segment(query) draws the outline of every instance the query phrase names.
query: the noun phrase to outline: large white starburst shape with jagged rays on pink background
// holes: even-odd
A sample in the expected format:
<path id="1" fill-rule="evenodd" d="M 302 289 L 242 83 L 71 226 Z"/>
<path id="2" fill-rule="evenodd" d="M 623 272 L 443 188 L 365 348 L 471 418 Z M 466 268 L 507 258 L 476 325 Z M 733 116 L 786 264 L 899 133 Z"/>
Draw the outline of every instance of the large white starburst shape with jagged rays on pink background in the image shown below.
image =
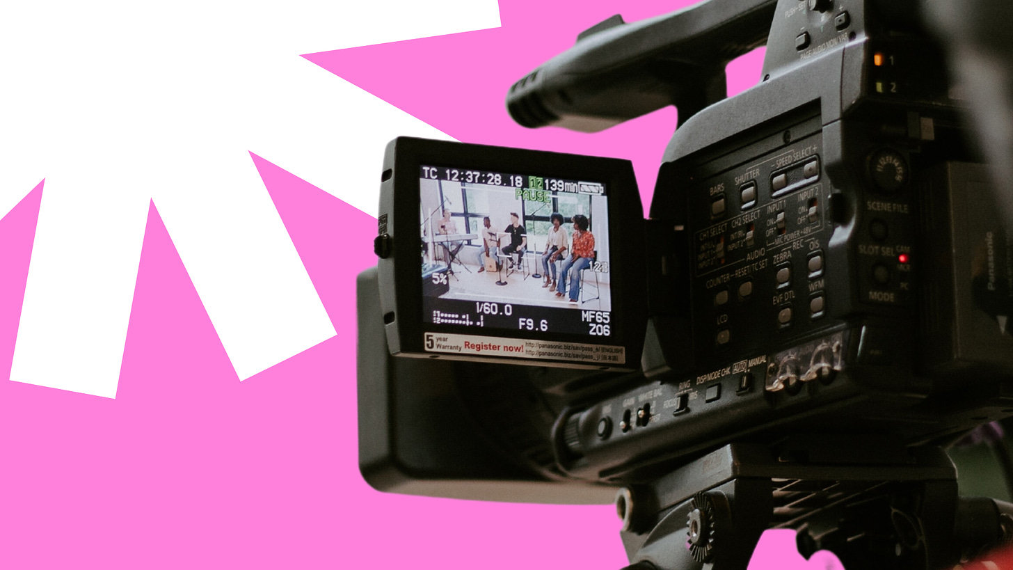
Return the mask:
<path id="1" fill-rule="evenodd" d="M 11 379 L 115 396 L 151 200 L 240 378 L 333 336 L 248 152 L 375 214 L 362 164 L 447 137 L 300 54 L 498 25 L 494 0 L 5 3 L 0 215 L 46 180 Z"/>

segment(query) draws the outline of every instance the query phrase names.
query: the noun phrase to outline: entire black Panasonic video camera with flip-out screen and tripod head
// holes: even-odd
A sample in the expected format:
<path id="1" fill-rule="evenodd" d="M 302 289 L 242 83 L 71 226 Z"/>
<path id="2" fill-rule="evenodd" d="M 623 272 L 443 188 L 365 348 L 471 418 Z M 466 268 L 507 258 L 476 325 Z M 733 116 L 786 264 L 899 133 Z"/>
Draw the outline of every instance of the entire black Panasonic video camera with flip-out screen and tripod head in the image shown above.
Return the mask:
<path id="1" fill-rule="evenodd" d="M 770 526 L 846 565 L 1000 540 L 1013 518 L 958 499 L 936 446 L 1013 415 L 1013 121 L 983 120 L 1010 117 L 1013 40 L 982 17 L 1011 10 L 946 5 L 709 0 L 580 33 L 508 109 L 590 132 L 675 104 L 646 220 L 628 161 L 392 141 L 359 278 L 366 480 L 621 487 L 630 568 L 745 568 Z"/>

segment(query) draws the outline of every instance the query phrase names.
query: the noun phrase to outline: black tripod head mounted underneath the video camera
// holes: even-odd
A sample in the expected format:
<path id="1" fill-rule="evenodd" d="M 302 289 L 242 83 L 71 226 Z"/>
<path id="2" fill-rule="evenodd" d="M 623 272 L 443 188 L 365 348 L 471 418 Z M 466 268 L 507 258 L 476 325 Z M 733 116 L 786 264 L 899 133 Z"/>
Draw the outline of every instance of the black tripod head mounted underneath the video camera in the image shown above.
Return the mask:
<path id="1" fill-rule="evenodd" d="M 767 528 L 845 568 L 932 570 L 1013 537 L 1013 505 L 959 498 L 939 447 L 883 437 L 732 443 L 619 491 L 624 570 L 745 570 Z"/>

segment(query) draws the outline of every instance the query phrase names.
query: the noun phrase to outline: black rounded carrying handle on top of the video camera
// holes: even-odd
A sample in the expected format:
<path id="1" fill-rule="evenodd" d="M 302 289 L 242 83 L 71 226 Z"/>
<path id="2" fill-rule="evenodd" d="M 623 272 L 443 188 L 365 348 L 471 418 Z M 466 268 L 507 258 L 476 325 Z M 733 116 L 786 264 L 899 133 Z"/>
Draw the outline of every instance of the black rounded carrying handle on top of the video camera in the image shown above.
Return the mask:
<path id="1" fill-rule="evenodd" d="M 682 124 L 726 95 L 724 66 L 766 44 L 776 0 L 706 0 L 633 23 L 613 16 L 515 83 L 525 127 L 597 132 L 675 104 Z"/>

